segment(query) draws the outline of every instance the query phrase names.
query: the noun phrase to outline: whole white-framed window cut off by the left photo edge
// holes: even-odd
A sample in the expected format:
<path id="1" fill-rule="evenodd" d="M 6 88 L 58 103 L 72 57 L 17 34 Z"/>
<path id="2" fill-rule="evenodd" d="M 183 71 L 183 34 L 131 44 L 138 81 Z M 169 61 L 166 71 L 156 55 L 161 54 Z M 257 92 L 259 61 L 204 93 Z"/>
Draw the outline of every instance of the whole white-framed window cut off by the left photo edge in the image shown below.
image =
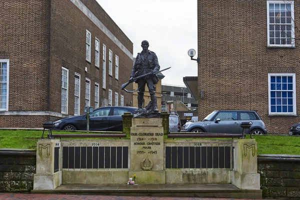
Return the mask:
<path id="1" fill-rule="evenodd" d="M 9 60 L 0 59 L 0 110 L 8 110 Z"/>

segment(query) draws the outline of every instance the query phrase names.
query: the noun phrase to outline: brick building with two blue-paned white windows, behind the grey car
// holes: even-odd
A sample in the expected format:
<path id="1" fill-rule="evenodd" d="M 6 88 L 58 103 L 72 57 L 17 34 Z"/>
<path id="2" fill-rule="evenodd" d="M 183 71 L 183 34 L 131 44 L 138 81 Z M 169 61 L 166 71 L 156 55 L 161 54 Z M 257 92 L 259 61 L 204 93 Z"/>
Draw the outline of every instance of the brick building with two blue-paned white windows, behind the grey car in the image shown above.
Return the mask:
<path id="1" fill-rule="evenodd" d="M 257 110 L 268 133 L 299 122 L 299 1 L 198 0 L 199 118 L 215 109 Z M 295 26 L 295 27 L 294 27 Z"/>

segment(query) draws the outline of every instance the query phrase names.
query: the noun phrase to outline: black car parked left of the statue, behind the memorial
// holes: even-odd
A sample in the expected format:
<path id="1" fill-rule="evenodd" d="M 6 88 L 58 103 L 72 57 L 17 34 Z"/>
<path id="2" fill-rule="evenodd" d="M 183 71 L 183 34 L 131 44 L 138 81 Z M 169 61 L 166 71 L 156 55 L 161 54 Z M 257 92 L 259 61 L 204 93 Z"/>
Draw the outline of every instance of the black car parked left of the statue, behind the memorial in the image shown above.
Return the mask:
<path id="1" fill-rule="evenodd" d="M 122 131 L 122 114 L 131 112 L 136 107 L 107 106 L 94 109 L 89 114 L 89 130 Z M 86 114 L 71 116 L 53 122 L 53 129 L 86 130 Z"/>

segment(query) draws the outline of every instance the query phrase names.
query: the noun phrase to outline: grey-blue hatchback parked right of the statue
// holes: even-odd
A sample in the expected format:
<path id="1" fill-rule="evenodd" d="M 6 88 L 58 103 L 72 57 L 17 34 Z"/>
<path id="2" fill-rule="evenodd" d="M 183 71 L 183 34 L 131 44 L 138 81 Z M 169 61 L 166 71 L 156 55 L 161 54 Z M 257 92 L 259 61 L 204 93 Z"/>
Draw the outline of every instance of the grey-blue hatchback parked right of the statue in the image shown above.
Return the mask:
<path id="1" fill-rule="evenodd" d="M 242 133 L 241 122 L 251 121 L 251 134 L 266 134 L 264 122 L 254 110 L 214 110 L 201 121 L 186 123 L 182 132 Z"/>

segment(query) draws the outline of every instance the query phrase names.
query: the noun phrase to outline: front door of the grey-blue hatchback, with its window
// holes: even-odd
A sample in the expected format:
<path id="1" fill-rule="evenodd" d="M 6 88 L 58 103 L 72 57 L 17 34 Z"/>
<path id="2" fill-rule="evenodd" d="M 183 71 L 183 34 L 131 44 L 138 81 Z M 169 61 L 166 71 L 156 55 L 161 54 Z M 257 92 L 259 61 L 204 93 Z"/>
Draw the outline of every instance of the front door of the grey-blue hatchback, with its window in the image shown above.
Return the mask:
<path id="1" fill-rule="evenodd" d="M 216 119 L 220 121 L 216 121 Z M 239 133 L 239 121 L 236 111 L 219 111 L 210 122 L 209 132 L 212 133 Z"/>

